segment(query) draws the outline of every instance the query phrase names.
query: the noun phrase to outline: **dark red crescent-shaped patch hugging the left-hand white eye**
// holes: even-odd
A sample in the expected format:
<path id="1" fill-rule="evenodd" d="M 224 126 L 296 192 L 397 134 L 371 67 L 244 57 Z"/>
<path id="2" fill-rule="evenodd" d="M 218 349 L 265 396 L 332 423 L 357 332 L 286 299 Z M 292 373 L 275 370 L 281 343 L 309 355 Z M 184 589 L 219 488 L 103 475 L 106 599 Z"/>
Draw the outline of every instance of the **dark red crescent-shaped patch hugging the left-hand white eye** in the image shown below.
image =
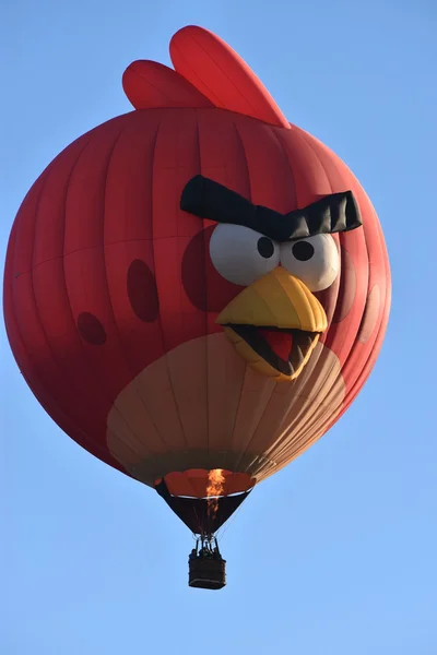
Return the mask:
<path id="1" fill-rule="evenodd" d="M 220 312 L 243 286 L 227 282 L 214 267 L 210 240 L 215 227 L 206 227 L 192 237 L 182 258 L 182 284 L 191 303 L 202 311 Z"/>

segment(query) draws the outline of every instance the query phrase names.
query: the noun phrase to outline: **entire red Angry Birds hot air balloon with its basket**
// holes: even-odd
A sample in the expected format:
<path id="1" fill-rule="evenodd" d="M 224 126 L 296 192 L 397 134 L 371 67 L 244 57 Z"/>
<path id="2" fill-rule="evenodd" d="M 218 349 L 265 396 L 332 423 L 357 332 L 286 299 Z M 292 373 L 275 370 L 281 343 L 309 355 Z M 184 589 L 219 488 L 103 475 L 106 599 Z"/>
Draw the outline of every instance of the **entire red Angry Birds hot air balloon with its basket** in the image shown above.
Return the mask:
<path id="1" fill-rule="evenodd" d="M 221 588 L 216 531 L 347 409 L 378 357 L 390 271 L 346 165 L 221 38 L 134 61 L 134 109 L 47 166 L 14 221 L 11 348 L 57 425 L 155 489 Z"/>

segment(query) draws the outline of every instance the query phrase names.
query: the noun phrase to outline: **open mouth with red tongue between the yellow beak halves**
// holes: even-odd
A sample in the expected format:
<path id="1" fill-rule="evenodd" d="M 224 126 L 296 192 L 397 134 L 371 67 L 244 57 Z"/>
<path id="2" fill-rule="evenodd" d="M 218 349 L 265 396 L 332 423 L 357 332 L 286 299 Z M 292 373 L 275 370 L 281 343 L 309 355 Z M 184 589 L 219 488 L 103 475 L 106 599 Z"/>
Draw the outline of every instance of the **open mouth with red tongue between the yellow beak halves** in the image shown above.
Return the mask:
<path id="1" fill-rule="evenodd" d="M 306 332 L 295 327 L 235 323 L 228 323 L 224 327 L 225 331 L 233 331 L 258 357 L 288 380 L 296 379 L 302 372 L 320 337 L 319 332 Z M 229 335 L 229 332 L 227 334 Z"/>

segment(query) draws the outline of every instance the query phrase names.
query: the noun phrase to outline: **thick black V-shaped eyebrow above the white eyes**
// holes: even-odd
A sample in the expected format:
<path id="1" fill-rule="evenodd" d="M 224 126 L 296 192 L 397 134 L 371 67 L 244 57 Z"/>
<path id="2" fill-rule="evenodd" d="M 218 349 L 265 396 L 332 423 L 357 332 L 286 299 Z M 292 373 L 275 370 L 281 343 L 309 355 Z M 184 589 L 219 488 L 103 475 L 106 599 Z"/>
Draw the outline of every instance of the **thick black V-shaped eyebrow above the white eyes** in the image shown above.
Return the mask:
<path id="1" fill-rule="evenodd" d="M 180 209 L 200 218 L 250 227 L 274 241 L 331 235 L 363 225 L 352 191 L 331 193 L 303 210 L 281 214 L 255 205 L 239 193 L 201 175 L 191 178 L 185 186 Z"/>

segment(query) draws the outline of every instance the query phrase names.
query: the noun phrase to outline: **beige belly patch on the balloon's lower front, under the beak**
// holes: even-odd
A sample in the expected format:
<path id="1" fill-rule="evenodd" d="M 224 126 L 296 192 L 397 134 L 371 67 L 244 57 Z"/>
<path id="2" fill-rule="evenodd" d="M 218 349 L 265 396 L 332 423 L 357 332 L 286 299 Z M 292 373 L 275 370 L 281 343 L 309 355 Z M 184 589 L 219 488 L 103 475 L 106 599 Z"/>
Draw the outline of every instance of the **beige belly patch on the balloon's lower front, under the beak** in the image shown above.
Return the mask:
<path id="1" fill-rule="evenodd" d="M 320 438 L 343 397 L 339 360 L 322 344 L 284 383 L 252 371 L 223 333 L 213 334 L 181 344 L 120 393 L 107 443 L 147 485 L 187 468 L 228 468 L 259 481 Z"/>

